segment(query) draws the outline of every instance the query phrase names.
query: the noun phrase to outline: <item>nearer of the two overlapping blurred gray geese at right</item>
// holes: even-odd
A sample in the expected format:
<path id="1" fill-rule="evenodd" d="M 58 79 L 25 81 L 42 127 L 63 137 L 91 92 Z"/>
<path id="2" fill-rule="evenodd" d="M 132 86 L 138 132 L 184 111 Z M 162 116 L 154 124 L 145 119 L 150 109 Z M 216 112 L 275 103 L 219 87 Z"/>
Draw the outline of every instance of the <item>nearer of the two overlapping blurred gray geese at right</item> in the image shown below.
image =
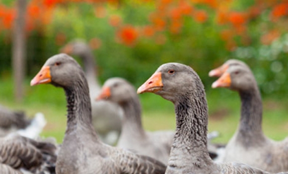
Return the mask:
<path id="1" fill-rule="evenodd" d="M 264 135 L 261 94 L 250 68 L 243 62 L 224 65 L 228 68 L 213 87 L 228 87 L 239 93 L 241 117 L 223 161 L 241 162 L 269 172 L 288 171 L 288 138 L 275 142 Z"/>

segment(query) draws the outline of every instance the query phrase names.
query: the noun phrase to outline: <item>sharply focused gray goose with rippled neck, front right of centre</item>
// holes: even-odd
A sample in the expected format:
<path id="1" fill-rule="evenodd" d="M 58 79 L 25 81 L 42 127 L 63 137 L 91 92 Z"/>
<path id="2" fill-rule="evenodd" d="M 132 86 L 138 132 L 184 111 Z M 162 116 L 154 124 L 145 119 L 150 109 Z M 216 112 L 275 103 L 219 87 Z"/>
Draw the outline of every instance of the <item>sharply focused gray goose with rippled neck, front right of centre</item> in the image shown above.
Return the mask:
<path id="1" fill-rule="evenodd" d="M 207 149 L 208 106 L 204 86 L 189 66 L 167 63 L 138 88 L 174 103 L 176 133 L 165 174 L 269 174 L 241 163 L 215 163 Z"/>

